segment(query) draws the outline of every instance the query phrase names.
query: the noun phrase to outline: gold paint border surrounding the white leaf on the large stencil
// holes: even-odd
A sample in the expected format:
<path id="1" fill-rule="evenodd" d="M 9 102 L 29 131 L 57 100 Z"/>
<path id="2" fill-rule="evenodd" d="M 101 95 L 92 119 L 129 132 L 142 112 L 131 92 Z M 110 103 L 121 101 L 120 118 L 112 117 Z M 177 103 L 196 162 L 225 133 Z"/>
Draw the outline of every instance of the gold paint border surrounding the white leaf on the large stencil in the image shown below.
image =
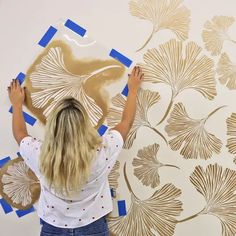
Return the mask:
<path id="1" fill-rule="evenodd" d="M 42 121 L 43 123 L 46 122 L 46 117 L 43 115 L 43 112 L 51 104 L 53 99 L 51 100 L 49 99 L 48 103 L 43 108 L 34 107 L 32 105 L 31 94 L 41 90 L 32 87 L 30 77 L 32 73 L 34 73 L 37 70 L 36 66 L 42 62 L 43 57 L 48 55 L 49 50 L 57 47 L 60 48 L 62 51 L 66 69 L 74 75 L 90 74 L 93 71 L 106 66 L 111 66 L 111 65 L 119 66 L 119 68 L 110 68 L 106 71 L 103 71 L 97 75 L 90 77 L 83 85 L 85 93 L 89 97 L 93 98 L 96 104 L 102 109 L 103 115 L 97 124 L 97 126 L 99 126 L 104 122 L 108 112 L 109 97 L 104 87 L 111 83 L 116 82 L 117 80 L 120 80 L 124 74 L 125 68 L 121 63 L 113 59 L 108 59 L 108 60 L 99 60 L 93 58 L 76 59 L 73 56 L 70 47 L 63 41 L 53 41 L 52 43 L 50 43 L 48 47 L 43 51 L 43 53 L 41 53 L 37 57 L 37 59 L 28 69 L 25 80 L 25 85 L 27 88 L 26 106 L 33 114 L 35 114 L 38 117 L 40 121 Z"/>

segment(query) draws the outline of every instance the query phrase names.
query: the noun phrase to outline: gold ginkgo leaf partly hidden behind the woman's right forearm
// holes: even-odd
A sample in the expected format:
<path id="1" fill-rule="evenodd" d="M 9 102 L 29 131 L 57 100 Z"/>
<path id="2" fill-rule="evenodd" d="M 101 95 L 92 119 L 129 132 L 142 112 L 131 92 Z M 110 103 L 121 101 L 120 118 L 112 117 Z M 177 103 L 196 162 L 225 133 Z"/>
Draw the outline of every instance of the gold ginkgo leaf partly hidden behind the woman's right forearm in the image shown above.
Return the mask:
<path id="1" fill-rule="evenodd" d="M 158 92 L 152 92 L 150 90 L 144 90 L 140 88 L 137 96 L 137 109 L 134 123 L 126 138 L 126 141 L 123 146 L 124 148 L 128 149 L 133 145 L 137 131 L 142 126 L 149 127 L 155 132 L 157 132 L 159 135 L 161 135 L 157 130 L 155 130 L 151 126 L 147 116 L 149 108 L 152 107 L 154 104 L 156 104 L 159 100 L 160 100 L 160 95 Z M 121 94 L 118 94 L 112 98 L 112 104 L 115 108 L 109 109 L 107 117 L 107 122 L 109 126 L 114 127 L 121 121 L 122 112 L 125 107 L 125 102 L 126 100 Z M 163 135 L 161 136 L 162 138 L 164 138 Z"/>

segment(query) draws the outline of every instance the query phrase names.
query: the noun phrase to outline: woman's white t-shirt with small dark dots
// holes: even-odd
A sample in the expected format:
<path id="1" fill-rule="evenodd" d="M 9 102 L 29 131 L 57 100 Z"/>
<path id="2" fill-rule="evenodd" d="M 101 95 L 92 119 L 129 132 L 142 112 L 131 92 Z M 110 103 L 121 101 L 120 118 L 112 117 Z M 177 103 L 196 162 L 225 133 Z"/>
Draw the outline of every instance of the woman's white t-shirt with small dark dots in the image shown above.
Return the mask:
<path id="1" fill-rule="evenodd" d="M 42 142 L 30 136 L 20 143 L 20 154 L 40 180 L 41 194 L 37 213 L 45 222 L 61 228 L 88 225 L 112 211 L 108 174 L 122 150 L 123 138 L 116 130 L 103 136 L 101 148 L 92 163 L 91 175 L 81 192 L 70 198 L 56 195 L 47 187 L 39 171 L 39 154 Z"/>

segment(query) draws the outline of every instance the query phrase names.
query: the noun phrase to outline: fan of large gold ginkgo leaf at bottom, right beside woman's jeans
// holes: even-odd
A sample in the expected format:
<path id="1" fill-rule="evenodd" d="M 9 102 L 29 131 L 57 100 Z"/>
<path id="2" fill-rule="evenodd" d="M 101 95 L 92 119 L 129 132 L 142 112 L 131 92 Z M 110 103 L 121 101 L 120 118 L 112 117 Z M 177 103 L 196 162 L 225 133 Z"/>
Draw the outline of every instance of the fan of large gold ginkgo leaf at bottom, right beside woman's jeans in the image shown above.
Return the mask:
<path id="1" fill-rule="evenodd" d="M 131 194 L 131 206 L 126 216 L 108 218 L 111 233 L 115 235 L 173 235 L 177 223 L 176 216 L 182 211 L 182 203 L 176 199 L 181 190 L 173 184 L 166 184 L 146 200 Z M 150 215 L 151 213 L 151 215 Z"/>

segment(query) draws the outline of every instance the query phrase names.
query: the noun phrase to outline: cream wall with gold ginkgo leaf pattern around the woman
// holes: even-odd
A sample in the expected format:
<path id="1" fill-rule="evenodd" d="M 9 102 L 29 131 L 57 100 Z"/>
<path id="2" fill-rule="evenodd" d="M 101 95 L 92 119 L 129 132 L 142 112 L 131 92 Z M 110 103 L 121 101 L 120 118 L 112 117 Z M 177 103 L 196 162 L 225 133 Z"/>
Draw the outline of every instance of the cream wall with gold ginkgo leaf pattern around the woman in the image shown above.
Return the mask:
<path id="1" fill-rule="evenodd" d="M 104 50 L 115 48 L 145 71 L 132 133 L 113 171 L 113 234 L 235 235 L 235 7 L 233 0 L 1 0 L 1 165 L 18 152 L 6 88 L 42 52 L 37 43 L 48 27 L 70 18 Z M 120 118 L 123 85 L 124 76 L 108 89 L 105 125 Z M 39 120 L 28 129 L 43 137 Z M 0 203 L 1 235 L 38 235 L 35 212 Z"/>

